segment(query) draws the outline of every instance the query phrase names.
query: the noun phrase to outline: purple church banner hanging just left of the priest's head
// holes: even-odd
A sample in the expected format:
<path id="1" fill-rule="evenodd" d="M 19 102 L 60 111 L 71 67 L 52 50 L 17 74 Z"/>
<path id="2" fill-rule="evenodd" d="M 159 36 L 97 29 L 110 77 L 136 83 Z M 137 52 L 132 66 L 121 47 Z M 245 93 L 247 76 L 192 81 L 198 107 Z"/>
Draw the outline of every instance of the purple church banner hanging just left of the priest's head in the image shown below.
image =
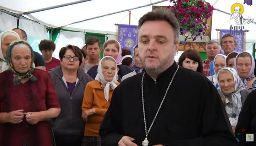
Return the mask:
<path id="1" fill-rule="evenodd" d="M 121 44 L 121 48 L 127 48 L 132 50 L 134 45 L 137 44 L 137 25 L 122 25 L 119 24 L 118 42 Z"/>

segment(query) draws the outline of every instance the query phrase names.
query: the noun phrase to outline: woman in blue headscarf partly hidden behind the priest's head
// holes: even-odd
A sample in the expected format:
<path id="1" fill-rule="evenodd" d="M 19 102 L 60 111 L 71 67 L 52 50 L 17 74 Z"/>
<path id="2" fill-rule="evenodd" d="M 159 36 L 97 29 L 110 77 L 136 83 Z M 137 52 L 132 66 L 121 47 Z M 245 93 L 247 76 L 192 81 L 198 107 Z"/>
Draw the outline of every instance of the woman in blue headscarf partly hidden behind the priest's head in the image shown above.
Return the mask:
<path id="1" fill-rule="evenodd" d="M 143 69 L 143 64 L 141 63 L 140 61 L 140 58 L 139 58 L 139 47 L 138 47 L 138 44 L 135 45 L 132 49 L 132 72 L 130 72 L 129 74 L 127 75 L 124 75 L 122 77 L 122 80 L 125 80 L 127 79 L 128 77 L 131 77 L 131 76 L 134 76 L 134 75 L 137 75 L 139 74 L 140 72 L 142 72 L 144 69 Z"/>

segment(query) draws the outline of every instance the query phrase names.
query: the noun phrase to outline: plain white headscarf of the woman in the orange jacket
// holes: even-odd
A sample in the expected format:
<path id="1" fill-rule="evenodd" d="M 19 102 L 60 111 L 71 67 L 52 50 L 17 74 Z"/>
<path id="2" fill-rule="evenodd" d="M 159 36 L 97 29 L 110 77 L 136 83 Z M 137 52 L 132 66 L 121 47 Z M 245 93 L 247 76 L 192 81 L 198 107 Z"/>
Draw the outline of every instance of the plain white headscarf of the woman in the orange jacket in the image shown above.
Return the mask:
<path id="1" fill-rule="evenodd" d="M 116 71 L 115 71 L 115 74 L 114 74 L 114 77 L 113 77 L 113 80 L 111 82 L 107 82 L 102 74 L 102 61 L 103 60 L 106 60 L 105 58 L 111 58 L 112 61 L 114 61 L 114 63 L 116 64 L 116 60 L 111 57 L 111 56 L 105 56 L 103 57 L 101 60 L 100 60 L 100 63 L 98 65 L 98 74 L 96 75 L 95 77 L 95 80 L 98 80 L 100 81 L 101 83 L 104 83 L 106 84 L 106 87 L 104 88 L 104 96 L 105 96 L 105 99 L 108 101 L 108 97 L 109 97 L 109 90 L 110 90 L 110 87 L 114 90 L 117 85 L 115 84 L 117 82 L 117 67 L 116 67 Z M 117 65 L 116 65 L 117 66 Z"/>

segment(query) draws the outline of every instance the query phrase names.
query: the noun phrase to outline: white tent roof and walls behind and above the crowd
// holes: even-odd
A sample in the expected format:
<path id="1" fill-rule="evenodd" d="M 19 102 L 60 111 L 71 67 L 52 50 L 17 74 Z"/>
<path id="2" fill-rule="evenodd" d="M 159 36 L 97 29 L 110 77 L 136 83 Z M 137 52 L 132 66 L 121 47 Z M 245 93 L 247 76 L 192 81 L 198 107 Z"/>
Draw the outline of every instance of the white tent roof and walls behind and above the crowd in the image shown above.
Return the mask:
<path id="1" fill-rule="evenodd" d="M 206 1 L 217 9 L 213 11 L 212 39 L 219 39 L 218 32 L 215 29 L 229 29 L 230 15 L 227 13 L 231 14 L 230 8 L 234 3 L 240 3 L 244 6 L 242 16 L 244 18 L 254 18 L 253 23 L 245 25 L 245 28 L 249 30 L 246 33 L 246 42 L 256 42 L 256 4 L 248 6 L 243 4 L 244 0 Z M 77 4 L 45 10 L 49 7 L 71 3 Z M 48 38 L 46 27 L 61 27 L 81 32 L 116 35 L 117 26 L 114 24 L 129 24 L 129 10 L 131 11 L 130 24 L 138 25 L 139 18 L 146 12 L 151 11 L 152 5 L 168 6 L 172 5 L 172 3 L 169 0 L 1 0 L 0 31 L 15 28 L 17 26 L 17 17 L 22 16 L 18 17 L 20 20 L 19 27 L 24 29 L 28 36 L 39 39 Z M 37 12 L 40 9 L 43 11 Z M 25 18 L 32 21 L 25 20 Z M 73 37 L 76 39 L 71 39 Z M 84 36 L 82 33 L 60 32 L 57 48 L 60 49 L 64 44 L 68 43 L 80 47 L 84 44 Z M 247 52 L 251 53 L 251 48 L 252 45 L 250 43 L 246 44 Z M 58 52 L 55 52 L 55 54 L 58 54 Z"/>

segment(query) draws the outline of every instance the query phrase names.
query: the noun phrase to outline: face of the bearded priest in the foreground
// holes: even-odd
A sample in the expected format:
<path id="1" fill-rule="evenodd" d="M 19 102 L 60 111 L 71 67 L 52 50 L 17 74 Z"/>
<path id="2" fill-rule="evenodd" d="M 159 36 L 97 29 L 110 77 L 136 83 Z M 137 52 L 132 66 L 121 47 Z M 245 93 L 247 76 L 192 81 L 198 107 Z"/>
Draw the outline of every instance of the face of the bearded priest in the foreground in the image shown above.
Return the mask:
<path id="1" fill-rule="evenodd" d="M 166 21 L 146 21 L 138 32 L 140 60 L 146 71 L 160 74 L 174 63 L 178 43 L 175 32 Z"/>

